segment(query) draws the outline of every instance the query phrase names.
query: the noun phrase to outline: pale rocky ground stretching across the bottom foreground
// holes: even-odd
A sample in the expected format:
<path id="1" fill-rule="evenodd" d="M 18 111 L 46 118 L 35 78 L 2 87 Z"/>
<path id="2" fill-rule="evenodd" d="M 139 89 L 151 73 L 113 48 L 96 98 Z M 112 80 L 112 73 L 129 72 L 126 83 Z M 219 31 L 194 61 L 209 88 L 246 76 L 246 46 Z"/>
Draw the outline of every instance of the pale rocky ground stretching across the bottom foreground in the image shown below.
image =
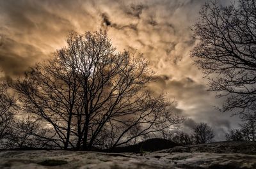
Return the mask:
<path id="1" fill-rule="evenodd" d="M 256 143 L 219 142 L 157 152 L 1 151 L 0 168 L 256 168 Z"/>

